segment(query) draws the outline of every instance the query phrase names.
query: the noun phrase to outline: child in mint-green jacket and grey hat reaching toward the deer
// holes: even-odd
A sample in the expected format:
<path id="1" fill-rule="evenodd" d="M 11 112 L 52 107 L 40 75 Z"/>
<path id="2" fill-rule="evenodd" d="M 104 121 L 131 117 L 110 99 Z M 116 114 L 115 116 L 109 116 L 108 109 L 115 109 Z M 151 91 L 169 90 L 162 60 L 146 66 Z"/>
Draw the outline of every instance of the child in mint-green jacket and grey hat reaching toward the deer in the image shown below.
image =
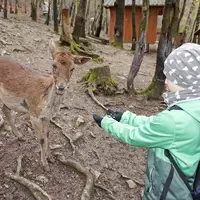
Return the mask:
<path id="1" fill-rule="evenodd" d="M 120 141 L 149 149 L 143 200 L 192 200 L 165 149 L 192 189 L 200 161 L 200 45 L 175 49 L 165 60 L 164 74 L 166 110 L 150 117 L 126 111 L 93 118 Z"/>

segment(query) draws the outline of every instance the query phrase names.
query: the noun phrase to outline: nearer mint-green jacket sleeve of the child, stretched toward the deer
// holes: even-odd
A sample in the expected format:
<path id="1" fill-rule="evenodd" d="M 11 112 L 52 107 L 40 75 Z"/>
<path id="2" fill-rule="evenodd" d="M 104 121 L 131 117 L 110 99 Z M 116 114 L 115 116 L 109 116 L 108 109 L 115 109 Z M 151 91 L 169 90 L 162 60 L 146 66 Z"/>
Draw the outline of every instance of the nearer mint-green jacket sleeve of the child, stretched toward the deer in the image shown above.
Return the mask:
<path id="1" fill-rule="evenodd" d="M 145 123 L 137 126 L 123 124 L 110 116 L 105 116 L 101 126 L 113 137 L 137 147 L 170 148 L 175 138 L 175 123 L 169 111 L 152 116 Z"/>

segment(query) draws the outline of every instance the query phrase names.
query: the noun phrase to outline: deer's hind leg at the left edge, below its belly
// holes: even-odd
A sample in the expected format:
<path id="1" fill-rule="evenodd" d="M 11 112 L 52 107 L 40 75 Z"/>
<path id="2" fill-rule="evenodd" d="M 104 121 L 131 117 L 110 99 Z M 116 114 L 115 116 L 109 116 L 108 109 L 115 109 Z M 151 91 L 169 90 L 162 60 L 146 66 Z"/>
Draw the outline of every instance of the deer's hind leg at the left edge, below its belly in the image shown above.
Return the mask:
<path id="1" fill-rule="evenodd" d="M 14 123 L 14 120 L 12 118 L 11 109 L 8 108 L 5 104 L 3 104 L 2 111 L 3 111 L 4 115 L 6 116 L 6 119 L 7 119 L 8 123 L 10 124 L 10 126 L 12 128 L 13 134 L 16 137 L 18 137 L 18 139 L 22 139 L 22 134 L 17 131 L 17 128 L 16 128 L 15 123 Z"/>

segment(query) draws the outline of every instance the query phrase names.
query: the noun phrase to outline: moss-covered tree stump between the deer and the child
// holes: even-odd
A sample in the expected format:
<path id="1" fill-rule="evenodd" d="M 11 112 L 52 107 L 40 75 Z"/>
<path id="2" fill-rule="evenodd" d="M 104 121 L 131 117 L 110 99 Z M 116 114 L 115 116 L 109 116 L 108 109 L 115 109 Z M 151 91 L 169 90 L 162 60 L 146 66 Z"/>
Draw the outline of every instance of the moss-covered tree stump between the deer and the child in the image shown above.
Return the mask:
<path id="1" fill-rule="evenodd" d="M 113 95 L 117 90 L 117 82 L 111 77 L 109 66 L 90 69 L 83 76 L 87 81 L 88 87 L 96 94 Z"/>

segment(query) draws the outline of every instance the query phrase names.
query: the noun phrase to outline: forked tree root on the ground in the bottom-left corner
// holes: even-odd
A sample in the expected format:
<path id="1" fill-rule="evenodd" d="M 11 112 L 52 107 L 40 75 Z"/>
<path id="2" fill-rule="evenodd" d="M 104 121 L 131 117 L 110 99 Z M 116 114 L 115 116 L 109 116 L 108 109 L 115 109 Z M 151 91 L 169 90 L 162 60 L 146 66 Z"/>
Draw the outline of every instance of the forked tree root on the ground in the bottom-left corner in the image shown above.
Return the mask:
<path id="1" fill-rule="evenodd" d="M 20 176 L 21 171 L 21 163 L 22 163 L 23 156 L 19 156 L 17 160 L 17 170 L 15 174 L 5 172 L 5 175 L 14 180 L 15 182 L 25 186 L 29 189 L 29 191 L 32 193 L 32 195 L 35 197 L 36 200 L 52 200 L 52 198 L 38 185 L 35 183 L 29 181 L 28 179 Z"/>

